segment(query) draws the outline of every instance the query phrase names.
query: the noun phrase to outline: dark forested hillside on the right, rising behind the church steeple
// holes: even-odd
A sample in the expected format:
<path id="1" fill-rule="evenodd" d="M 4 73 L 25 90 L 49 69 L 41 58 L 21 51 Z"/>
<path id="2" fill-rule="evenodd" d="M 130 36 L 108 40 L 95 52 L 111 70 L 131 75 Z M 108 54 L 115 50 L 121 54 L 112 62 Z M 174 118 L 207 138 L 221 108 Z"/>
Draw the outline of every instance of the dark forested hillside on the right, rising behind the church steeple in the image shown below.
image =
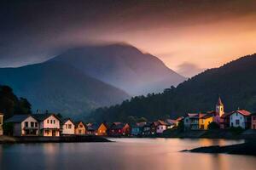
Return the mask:
<path id="1" fill-rule="evenodd" d="M 183 116 L 188 112 L 212 111 L 218 95 L 225 111 L 256 111 L 256 54 L 210 69 L 167 88 L 161 94 L 148 94 L 125 100 L 121 105 L 100 108 L 90 118 L 96 121 L 127 121 L 131 116 L 155 120 L 160 117 Z"/>

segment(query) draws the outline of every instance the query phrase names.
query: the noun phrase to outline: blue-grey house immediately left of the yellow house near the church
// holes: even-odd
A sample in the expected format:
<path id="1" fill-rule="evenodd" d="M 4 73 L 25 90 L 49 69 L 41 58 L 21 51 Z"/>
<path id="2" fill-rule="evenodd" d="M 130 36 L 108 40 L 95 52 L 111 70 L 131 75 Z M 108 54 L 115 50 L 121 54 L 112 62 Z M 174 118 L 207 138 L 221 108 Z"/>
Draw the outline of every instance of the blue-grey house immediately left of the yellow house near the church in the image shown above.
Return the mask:
<path id="1" fill-rule="evenodd" d="M 188 113 L 184 118 L 184 130 L 199 129 L 199 119 L 197 113 Z"/>

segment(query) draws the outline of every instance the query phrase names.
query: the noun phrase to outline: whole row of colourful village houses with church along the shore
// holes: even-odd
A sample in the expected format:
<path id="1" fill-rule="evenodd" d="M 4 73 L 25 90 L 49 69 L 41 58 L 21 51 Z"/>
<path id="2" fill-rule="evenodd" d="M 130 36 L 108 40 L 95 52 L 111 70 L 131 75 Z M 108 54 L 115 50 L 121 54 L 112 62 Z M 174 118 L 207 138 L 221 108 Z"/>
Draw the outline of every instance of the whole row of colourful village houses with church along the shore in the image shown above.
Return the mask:
<path id="1" fill-rule="evenodd" d="M 3 128 L 3 124 L 6 129 Z M 0 135 L 9 136 L 105 136 L 105 137 L 160 137 L 168 129 L 183 128 L 183 131 L 207 131 L 210 127 L 229 129 L 256 129 L 256 114 L 237 110 L 224 112 L 224 104 L 219 98 L 216 111 L 207 113 L 188 113 L 177 119 L 158 120 L 155 122 L 124 122 L 84 123 L 74 122 L 70 118 L 61 119 L 54 113 L 37 113 L 32 115 L 15 115 L 3 122 L 0 113 Z M 8 132 L 3 132 L 6 130 Z"/>

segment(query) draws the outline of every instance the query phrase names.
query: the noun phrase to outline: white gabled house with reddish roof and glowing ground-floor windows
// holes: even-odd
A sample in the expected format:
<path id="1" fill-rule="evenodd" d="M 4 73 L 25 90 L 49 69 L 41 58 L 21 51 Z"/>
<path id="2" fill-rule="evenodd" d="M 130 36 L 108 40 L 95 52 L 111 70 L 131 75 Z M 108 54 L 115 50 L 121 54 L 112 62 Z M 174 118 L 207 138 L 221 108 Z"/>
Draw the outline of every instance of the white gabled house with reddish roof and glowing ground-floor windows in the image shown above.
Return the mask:
<path id="1" fill-rule="evenodd" d="M 60 136 L 61 120 L 55 114 L 44 113 L 34 114 L 39 122 L 39 134 L 41 136 Z"/>

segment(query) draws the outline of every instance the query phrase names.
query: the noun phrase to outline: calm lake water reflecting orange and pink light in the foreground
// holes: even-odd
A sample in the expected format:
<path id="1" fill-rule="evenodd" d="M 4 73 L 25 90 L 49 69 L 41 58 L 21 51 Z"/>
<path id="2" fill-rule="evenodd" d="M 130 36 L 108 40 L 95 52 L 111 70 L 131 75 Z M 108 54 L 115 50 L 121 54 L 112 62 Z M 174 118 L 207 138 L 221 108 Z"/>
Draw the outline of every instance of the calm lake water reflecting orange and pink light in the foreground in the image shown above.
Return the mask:
<path id="1" fill-rule="evenodd" d="M 0 144 L 0 169 L 256 169 L 256 156 L 178 152 L 224 139 L 114 139 L 115 143 Z"/>

